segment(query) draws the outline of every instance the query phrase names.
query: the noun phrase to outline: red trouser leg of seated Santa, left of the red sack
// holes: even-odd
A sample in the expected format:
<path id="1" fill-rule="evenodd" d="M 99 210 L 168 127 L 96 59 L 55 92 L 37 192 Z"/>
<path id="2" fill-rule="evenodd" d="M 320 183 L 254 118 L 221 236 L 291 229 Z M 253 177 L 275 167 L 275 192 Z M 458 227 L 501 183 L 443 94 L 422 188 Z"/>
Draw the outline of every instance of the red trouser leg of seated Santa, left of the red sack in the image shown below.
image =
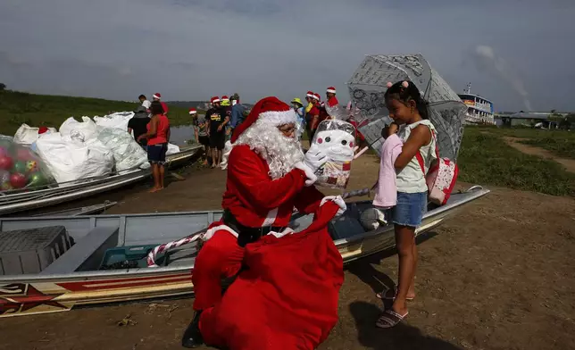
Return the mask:
<path id="1" fill-rule="evenodd" d="M 197 254 L 192 272 L 196 300 L 194 310 L 205 310 L 221 301 L 221 279 L 235 276 L 244 260 L 237 237 L 219 229 Z"/>

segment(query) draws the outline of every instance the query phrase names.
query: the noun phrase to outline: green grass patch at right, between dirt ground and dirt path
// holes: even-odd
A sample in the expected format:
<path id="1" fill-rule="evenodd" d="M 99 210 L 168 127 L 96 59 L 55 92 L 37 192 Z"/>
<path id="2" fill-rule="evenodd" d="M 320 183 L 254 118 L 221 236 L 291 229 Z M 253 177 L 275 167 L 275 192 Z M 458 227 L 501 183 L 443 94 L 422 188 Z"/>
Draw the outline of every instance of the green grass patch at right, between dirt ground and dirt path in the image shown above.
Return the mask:
<path id="1" fill-rule="evenodd" d="M 500 136 L 521 137 L 515 133 L 507 135 L 509 130 L 505 133 L 486 133 L 486 130 L 492 129 L 465 128 L 457 159 L 459 179 L 553 196 L 575 196 L 575 174 L 565 171 L 557 162 L 522 154 L 507 146 Z"/>

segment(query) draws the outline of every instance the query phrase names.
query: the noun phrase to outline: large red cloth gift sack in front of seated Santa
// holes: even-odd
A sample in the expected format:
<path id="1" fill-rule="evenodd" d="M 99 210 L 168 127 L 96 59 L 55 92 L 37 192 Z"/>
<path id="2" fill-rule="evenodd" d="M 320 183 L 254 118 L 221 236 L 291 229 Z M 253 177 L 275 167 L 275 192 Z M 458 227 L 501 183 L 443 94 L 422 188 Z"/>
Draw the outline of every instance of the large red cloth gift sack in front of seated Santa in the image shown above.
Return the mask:
<path id="1" fill-rule="evenodd" d="M 230 350 L 314 349 L 337 323 L 343 260 L 327 225 L 338 206 L 323 204 L 308 229 L 267 235 L 246 246 L 242 271 L 221 303 L 200 319 L 204 341 Z"/>

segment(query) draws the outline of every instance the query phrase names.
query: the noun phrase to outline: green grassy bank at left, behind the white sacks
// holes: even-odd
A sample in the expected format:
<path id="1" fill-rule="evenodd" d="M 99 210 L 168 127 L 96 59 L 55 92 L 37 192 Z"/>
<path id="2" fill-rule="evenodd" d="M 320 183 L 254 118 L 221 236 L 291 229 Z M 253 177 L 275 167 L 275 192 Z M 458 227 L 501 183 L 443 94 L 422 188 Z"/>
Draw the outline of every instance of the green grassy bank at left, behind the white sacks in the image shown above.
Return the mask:
<path id="1" fill-rule="evenodd" d="M 111 101 L 101 98 L 46 96 L 18 91 L 0 91 L 0 134 L 13 136 L 22 123 L 32 127 L 59 128 L 73 116 L 78 121 L 87 115 L 103 116 L 110 112 L 133 111 L 137 103 Z M 187 109 L 170 106 L 171 125 L 187 125 L 191 118 Z"/>

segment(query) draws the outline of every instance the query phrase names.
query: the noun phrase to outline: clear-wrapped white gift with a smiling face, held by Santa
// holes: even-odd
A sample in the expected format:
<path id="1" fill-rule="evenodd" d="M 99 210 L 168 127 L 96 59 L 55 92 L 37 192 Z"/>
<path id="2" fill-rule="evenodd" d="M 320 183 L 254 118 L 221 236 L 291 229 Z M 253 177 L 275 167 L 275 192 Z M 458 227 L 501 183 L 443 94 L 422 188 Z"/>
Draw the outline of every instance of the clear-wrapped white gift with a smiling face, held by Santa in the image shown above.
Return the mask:
<path id="1" fill-rule="evenodd" d="M 337 189 L 345 189 L 351 165 L 354 160 L 355 128 L 347 121 L 321 121 L 313 136 L 310 150 L 322 151 L 328 157 L 328 162 L 315 171 L 318 177 L 316 185 Z"/>

